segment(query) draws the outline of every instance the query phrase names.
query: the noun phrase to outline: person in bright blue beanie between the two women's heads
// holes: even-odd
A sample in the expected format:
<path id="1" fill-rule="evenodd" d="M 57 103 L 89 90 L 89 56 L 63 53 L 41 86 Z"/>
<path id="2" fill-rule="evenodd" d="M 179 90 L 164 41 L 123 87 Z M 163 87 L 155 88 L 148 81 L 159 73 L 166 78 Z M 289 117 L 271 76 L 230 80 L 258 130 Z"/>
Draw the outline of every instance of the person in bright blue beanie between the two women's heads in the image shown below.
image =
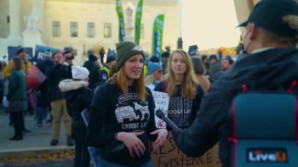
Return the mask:
<path id="1" fill-rule="evenodd" d="M 148 64 L 149 75 L 146 76 L 146 85 L 153 90 L 155 85 L 161 81 L 163 76 L 163 69 L 159 63 L 149 63 Z"/>

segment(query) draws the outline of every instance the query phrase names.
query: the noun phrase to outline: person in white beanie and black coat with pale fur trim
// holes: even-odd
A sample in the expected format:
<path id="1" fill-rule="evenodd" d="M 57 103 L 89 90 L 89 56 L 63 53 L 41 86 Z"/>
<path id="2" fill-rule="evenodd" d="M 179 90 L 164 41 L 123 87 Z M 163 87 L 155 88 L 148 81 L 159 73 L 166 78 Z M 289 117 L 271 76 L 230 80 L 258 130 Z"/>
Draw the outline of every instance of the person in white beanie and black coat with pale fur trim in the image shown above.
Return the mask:
<path id="1" fill-rule="evenodd" d="M 74 167 L 89 167 L 90 154 L 85 142 L 86 128 L 81 112 L 89 108 L 93 91 L 88 86 L 89 71 L 85 67 L 72 66 L 73 79 L 63 80 L 59 84 L 66 100 L 67 111 L 72 117 L 71 134 L 75 140 Z"/>

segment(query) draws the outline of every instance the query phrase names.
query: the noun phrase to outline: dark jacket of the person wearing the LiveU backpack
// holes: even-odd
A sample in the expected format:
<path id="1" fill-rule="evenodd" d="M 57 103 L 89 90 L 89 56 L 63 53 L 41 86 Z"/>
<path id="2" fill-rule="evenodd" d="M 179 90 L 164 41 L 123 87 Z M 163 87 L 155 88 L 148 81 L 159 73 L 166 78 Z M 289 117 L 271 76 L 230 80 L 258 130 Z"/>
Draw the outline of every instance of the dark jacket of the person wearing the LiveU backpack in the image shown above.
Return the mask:
<path id="1" fill-rule="evenodd" d="M 173 131 L 176 145 L 189 156 L 200 156 L 220 141 L 223 167 L 229 167 L 227 114 L 232 100 L 248 90 L 288 89 L 298 79 L 298 49 L 274 48 L 244 55 L 202 99 L 197 117 L 189 128 Z M 296 90 L 295 90 L 296 89 Z M 298 95 L 297 86 L 294 94 Z"/>

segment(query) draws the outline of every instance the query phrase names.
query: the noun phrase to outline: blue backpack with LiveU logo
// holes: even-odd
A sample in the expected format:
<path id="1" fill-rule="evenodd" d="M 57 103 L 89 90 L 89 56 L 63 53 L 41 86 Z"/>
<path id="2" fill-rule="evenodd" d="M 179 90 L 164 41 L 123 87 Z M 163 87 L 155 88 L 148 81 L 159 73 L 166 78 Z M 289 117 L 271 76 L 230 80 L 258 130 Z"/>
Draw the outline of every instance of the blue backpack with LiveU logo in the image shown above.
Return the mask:
<path id="1" fill-rule="evenodd" d="M 229 119 L 230 167 L 298 167 L 298 99 L 288 92 L 238 95 Z"/>

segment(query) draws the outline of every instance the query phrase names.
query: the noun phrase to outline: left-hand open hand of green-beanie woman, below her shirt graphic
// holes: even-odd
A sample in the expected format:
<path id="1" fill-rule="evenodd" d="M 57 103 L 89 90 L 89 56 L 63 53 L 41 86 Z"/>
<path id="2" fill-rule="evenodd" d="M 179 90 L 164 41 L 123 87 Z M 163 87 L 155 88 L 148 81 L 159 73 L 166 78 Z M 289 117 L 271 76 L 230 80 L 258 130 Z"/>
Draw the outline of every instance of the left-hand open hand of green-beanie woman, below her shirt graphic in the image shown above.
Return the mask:
<path id="1" fill-rule="evenodd" d="M 128 148 L 130 156 L 134 157 L 133 152 L 138 157 L 141 157 L 141 154 L 144 155 L 146 148 L 142 141 L 137 137 L 144 133 L 144 131 L 137 132 L 137 133 L 126 133 L 126 132 L 119 132 L 117 134 L 116 139 L 124 143 L 124 145 Z"/>

